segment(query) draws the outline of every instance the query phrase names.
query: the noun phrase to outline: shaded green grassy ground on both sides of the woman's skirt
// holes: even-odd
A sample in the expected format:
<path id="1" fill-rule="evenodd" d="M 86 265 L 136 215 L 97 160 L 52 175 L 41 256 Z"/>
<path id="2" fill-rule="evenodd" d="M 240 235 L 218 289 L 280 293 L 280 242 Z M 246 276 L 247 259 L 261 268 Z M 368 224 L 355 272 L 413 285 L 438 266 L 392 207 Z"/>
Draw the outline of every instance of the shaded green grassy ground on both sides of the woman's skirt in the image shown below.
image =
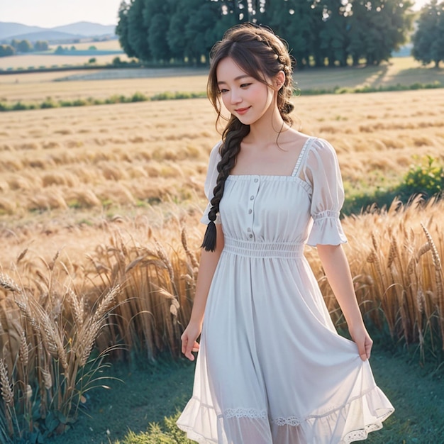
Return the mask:
<path id="1" fill-rule="evenodd" d="M 406 353 L 393 353 L 375 346 L 371 358 L 379 387 L 394 404 L 395 413 L 382 431 L 371 433 L 367 443 L 413 444 L 444 442 L 444 384 L 442 372 L 432 374 Z M 124 444 L 148 442 L 141 434 L 150 423 L 177 414 L 192 393 L 194 366 L 162 363 L 145 370 L 115 365 L 112 374 L 125 382 L 111 381 L 111 389 L 98 389 L 89 399 L 88 416 L 81 416 L 74 428 L 53 438 L 51 444 Z M 145 440 L 146 438 L 146 440 Z M 149 441 L 165 442 L 165 441 Z M 167 441 L 168 442 L 168 441 Z M 175 442 L 175 441 L 174 441 Z M 185 443 L 185 440 L 183 441 Z"/>

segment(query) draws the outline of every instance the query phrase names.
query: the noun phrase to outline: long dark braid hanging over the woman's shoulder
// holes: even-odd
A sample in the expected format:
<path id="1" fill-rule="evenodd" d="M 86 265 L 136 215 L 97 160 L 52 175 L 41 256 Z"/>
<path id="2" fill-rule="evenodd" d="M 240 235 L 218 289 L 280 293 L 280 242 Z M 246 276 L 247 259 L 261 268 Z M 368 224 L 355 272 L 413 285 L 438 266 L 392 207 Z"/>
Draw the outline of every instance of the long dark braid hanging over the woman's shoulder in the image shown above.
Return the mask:
<path id="1" fill-rule="evenodd" d="M 219 204 L 223 196 L 223 190 L 225 189 L 225 182 L 230 175 L 231 170 L 236 162 L 236 157 L 240 152 L 240 143 L 245 135 L 250 133 L 250 126 L 240 123 L 238 118 L 232 117 L 230 122 L 223 131 L 221 145 L 221 160 L 218 162 L 217 170 L 218 177 L 216 180 L 216 187 L 213 190 L 213 199 L 211 199 L 211 209 L 209 211 L 209 224 L 206 227 L 204 235 L 204 241 L 201 247 L 206 251 L 214 251 L 216 249 L 216 221 L 217 213 L 219 212 Z"/>

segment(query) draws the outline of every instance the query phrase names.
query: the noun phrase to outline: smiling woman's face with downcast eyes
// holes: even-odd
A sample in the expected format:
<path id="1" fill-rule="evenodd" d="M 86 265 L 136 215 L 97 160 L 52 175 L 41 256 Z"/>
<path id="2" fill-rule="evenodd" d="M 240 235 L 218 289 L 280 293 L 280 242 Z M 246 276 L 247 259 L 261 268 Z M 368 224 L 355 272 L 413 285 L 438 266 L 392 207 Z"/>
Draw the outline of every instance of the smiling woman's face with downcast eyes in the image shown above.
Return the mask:
<path id="1" fill-rule="evenodd" d="M 257 123 L 272 110 L 274 90 L 241 70 L 231 57 L 218 63 L 216 77 L 224 106 L 244 125 Z"/>

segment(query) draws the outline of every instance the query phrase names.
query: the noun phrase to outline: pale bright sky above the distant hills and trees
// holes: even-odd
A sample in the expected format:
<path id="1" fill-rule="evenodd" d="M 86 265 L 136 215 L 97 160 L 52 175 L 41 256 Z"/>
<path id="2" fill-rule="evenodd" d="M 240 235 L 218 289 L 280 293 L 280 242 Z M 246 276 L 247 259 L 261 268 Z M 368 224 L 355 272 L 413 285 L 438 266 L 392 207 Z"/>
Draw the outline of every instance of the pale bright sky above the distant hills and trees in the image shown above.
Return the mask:
<path id="1" fill-rule="evenodd" d="M 415 9 L 419 9 L 426 1 L 415 0 Z M 116 25 L 120 4 L 121 0 L 0 0 L 0 21 L 42 28 L 77 21 Z"/>

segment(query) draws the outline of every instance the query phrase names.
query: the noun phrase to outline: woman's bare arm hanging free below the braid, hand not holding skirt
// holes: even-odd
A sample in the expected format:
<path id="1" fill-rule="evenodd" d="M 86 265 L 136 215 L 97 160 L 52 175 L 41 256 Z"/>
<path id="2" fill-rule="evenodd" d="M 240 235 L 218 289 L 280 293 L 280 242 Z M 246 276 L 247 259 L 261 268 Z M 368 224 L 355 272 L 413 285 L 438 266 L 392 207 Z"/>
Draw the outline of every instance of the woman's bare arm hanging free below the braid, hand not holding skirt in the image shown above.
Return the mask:
<path id="1" fill-rule="evenodd" d="M 202 330 L 204 311 L 213 274 L 221 257 L 223 249 L 223 231 L 220 223 L 216 223 L 216 250 L 206 251 L 202 248 L 199 272 L 197 274 L 196 293 L 194 294 L 192 316 L 187 328 L 182 333 L 182 353 L 191 361 L 194 361 L 192 352 L 199 350 L 196 341 Z"/>

